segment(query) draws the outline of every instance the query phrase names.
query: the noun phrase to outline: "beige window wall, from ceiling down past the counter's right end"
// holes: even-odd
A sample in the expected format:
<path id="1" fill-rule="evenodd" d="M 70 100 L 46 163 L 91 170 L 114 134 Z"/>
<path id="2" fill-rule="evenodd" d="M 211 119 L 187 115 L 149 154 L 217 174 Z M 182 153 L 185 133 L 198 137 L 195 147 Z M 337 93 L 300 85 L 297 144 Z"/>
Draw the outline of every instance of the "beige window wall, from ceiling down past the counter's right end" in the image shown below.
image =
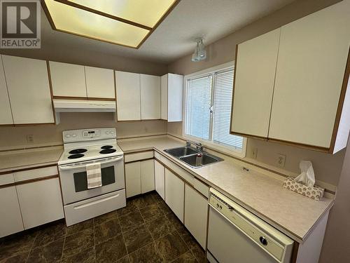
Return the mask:
<path id="1" fill-rule="evenodd" d="M 293 4 L 272 13 L 272 15 L 253 22 L 251 25 L 209 45 L 207 47 L 207 60 L 191 62 L 189 54 L 170 64 L 169 72 L 186 75 L 232 61 L 235 58 L 235 46 L 237 43 L 269 32 L 336 2 L 338 1 L 295 1 Z M 168 123 L 167 130 L 168 133 L 181 135 L 182 123 Z M 276 154 L 282 153 L 286 154 L 286 169 L 298 172 L 300 160 L 311 160 L 314 165 L 316 179 L 338 185 L 336 203 L 335 207 L 330 211 L 320 262 L 350 262 L 350 142 L 345 156 L 346 149 L 339 151 L 335 155 L 329 155 L 283 144 L 248 139 L 246 159 L 249 161 L 251 161 L 251 149 L 253 147 L 258 148 L 258 157 L 255 160 L 258 163 L 274 165 Z M 342 170 L 343 161 L 344 167 Z"/>

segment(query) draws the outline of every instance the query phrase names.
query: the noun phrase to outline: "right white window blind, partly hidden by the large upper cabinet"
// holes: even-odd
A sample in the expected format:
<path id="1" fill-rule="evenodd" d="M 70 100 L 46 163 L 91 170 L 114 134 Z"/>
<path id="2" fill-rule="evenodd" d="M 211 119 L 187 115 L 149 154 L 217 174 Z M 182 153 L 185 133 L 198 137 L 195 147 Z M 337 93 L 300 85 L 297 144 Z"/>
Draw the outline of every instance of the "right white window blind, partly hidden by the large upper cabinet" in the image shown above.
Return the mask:
<path id="1" fill-rule="evenodd" d="M 213 141 L 242 149 L 243 137 L 230 134 L 233 70 L 217 72 L 214 76 Z"/>

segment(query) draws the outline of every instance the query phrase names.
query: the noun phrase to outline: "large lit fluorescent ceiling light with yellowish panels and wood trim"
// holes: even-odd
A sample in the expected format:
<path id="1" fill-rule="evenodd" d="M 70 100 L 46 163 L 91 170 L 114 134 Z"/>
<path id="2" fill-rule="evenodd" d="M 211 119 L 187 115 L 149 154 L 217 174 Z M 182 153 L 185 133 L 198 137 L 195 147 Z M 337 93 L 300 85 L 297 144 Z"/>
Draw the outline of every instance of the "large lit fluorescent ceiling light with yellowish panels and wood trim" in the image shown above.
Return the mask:
<path id="1" fill-rule="evenodd" d="M 53 29 L 139 48 L 179 0 L 43 0 Z"/>

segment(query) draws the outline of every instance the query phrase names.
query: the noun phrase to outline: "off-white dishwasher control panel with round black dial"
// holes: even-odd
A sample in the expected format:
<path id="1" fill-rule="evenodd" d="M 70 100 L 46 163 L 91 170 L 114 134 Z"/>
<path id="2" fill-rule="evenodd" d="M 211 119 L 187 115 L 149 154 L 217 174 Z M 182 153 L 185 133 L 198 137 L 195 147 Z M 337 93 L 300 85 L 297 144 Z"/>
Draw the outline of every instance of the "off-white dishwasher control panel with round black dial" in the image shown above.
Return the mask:
<path id="1" fill-rule="evenodd" d="M 218 213 L 221 213 L 226 220 L 229 220 L 234 227 L 248 236 L 248 238 L 251 238 L 254 243 L 268 252 L 277 261 L 283 262 L 286 248 L 291 250 L 290 245 L 293 248 L 293 241 L 290 238 L 285 236 L 286 238 L 283 238 L 283 241 L 279 240 L 279 236 L 283 235 L 282 233 L 277 229 L 272 229 L 271 226 L 260 220 L 260 218 L 248 212 L 248 210 L 245 210 L 237 203 L 228 200 L 225 196 L 211 191 L 209 204 Z M 278 235 L 276 236 L 276 234 Z"/>

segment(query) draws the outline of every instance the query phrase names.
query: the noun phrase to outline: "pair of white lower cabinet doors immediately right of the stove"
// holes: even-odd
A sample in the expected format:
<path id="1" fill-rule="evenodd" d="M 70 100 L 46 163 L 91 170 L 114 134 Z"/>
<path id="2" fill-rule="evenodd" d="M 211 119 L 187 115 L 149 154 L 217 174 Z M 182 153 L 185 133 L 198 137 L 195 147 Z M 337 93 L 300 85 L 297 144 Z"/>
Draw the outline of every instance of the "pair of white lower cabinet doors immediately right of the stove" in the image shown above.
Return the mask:
<path id="1" fill-rule="evenodd" d="M 153 160 L 125 163 L 127 197 L 155 189 Z"/>

